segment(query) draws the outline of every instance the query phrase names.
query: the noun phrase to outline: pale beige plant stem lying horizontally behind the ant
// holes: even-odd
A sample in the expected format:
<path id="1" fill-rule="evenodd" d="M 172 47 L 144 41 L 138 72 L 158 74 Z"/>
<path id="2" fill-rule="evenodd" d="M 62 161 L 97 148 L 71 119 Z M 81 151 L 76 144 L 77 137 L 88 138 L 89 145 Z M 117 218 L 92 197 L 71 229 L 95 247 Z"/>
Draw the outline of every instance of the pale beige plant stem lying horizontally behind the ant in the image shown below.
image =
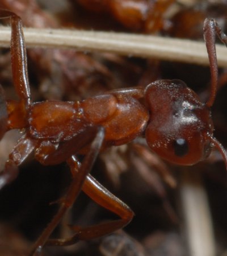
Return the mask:
<path id="1" fill-rule="evenodd" d="M 10 28 L 0 27 L 0 47 L 9 47 Z M 208 65 L 203 42 L 161 36 L 65 29 L 25 28 L 27 47 L 75 48 Z M 227 67 L 227 49 L 217 46 L 219 67 Z"/>

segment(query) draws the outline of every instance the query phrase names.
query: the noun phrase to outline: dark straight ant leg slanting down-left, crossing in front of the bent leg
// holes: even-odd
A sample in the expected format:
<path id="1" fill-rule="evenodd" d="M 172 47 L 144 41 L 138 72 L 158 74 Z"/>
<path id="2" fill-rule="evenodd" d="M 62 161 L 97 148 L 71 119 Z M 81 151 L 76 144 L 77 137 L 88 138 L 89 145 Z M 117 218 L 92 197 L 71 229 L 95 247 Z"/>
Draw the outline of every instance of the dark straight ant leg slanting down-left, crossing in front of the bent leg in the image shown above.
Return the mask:
<path id="1" fill-rule="evenodd" d="M 64 216 L 65 212 L 73 205 L 75 199 L 77 199 L 77 196 L 79 195 L 79 192 L 81 192 L 86 176 L 91 171 L 91 168 L 93 167 L 95 159 L 98 156 L 100 148 L 102 146 L 104 139 L 103 127 L 96 127 L 96 134 L 93 134 L 93 138 L 94 139 L 91 143 L 89 152 L 87 152 L 87 154 L 85 155 L 85 158 L 83 159 L 83 162 L 79 170 L 77 171 L 77 174 L 73 178 L 73 181 L 70 184 L 70 187 L 64 199 L 61 200 L 60 209 L 58 210 L 57 214 L 53 217 L 52 221 L 49 223 L 47 228 L 44 230 L 43 234 L 41 234 L 39 239 L 36 241 L 30 255 L 40 254 L 42 247 L 47 242 L 49 236 L 51 236 L 51 233 L 53 232 L 54 228 L 56 228 L 61 218 Z M 68 159 L 67 163 L 69 164 L 72 172 L 78 167 L 78 161 L 74 155 L 72 155 Z"/>

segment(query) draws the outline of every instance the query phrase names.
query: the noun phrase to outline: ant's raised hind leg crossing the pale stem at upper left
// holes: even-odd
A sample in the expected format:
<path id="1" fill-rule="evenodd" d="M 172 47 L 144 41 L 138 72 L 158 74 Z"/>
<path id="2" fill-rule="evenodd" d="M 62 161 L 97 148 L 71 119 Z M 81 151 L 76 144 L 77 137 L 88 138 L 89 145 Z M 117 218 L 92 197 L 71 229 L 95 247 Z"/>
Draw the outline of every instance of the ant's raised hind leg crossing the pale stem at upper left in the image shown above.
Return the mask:
<path id="1" fill-rule="evenodd" d="M 8 10 L 0 10 L 0 18 L 11 19 L 11 65 L 12 78 L 16 93 L 22 100 L 24 107 L 31 104 L 30 87 L 27 71 L 27 54 L 24 43 L 22 20 L 18 15 Z"/>

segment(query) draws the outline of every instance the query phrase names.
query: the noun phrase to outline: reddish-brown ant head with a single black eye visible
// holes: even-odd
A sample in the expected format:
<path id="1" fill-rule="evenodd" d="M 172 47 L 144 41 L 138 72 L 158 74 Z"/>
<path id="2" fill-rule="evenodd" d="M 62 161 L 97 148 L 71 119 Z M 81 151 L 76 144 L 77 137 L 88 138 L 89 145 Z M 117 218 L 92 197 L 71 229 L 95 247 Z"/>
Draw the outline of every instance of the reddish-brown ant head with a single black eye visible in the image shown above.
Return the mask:
<path id="1" fill-rule="evenodd" d="M 176 164 L 191 165 L 211 151 L 213 122 L 207 105 L 181 80 L 158 80 L 145 92 L 149 147 Z"/>

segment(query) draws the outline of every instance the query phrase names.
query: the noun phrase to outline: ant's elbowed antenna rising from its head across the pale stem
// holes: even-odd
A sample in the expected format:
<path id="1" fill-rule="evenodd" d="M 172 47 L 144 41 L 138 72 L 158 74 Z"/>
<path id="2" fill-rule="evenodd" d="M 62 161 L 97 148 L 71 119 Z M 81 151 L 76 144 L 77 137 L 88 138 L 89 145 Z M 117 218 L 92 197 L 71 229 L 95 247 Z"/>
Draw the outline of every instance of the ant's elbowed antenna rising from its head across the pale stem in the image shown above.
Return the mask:
<path id="1" fill-rule="evenodd" d="M 221 28 L 217 24 L 215 19 L 205 19 L 203 31 L 211 71 L 211 94 L 209 96 L 209 100 L 206 103 L 206 105 L 210 108 L 215 101 L 218 83 L 217 56 L 215 47 L 216 34 L 220 38 L 221 42 L 224 43 L 226 46 L 227 36 L 221 31 Z"/>

